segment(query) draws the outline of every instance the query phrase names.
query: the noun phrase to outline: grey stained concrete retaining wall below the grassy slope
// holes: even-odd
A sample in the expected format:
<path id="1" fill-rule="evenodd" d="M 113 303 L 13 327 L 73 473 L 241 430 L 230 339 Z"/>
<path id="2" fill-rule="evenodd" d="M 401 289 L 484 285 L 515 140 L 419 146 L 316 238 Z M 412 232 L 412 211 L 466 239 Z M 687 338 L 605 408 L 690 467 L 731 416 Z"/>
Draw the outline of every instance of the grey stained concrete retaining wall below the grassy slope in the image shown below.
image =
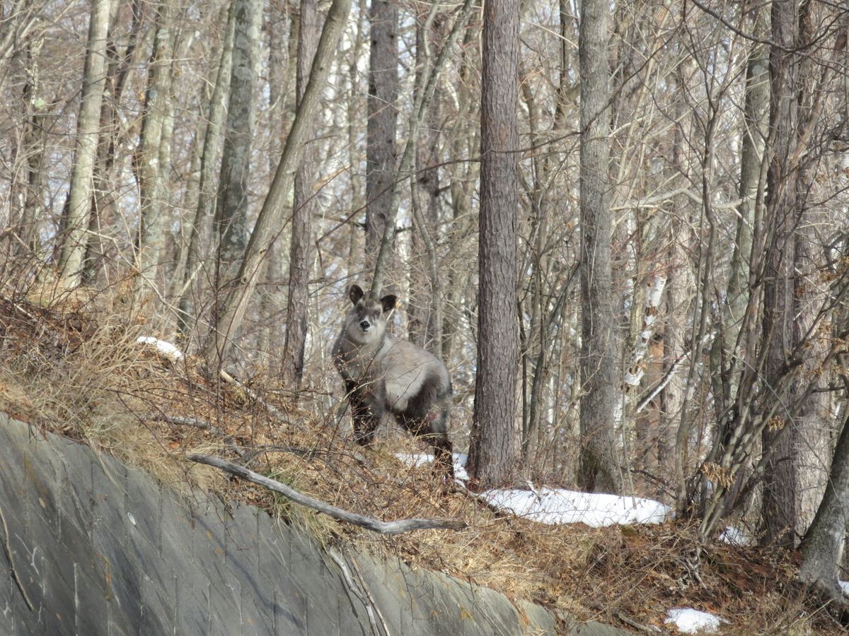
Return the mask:
<path id="1" fill-rule="evenodd" d="M 0 509 L 0 634 L 556 633 L 537 605 L 362 553 L 354 566 L 262 510 L 178 501 L 2 414 Z"/>

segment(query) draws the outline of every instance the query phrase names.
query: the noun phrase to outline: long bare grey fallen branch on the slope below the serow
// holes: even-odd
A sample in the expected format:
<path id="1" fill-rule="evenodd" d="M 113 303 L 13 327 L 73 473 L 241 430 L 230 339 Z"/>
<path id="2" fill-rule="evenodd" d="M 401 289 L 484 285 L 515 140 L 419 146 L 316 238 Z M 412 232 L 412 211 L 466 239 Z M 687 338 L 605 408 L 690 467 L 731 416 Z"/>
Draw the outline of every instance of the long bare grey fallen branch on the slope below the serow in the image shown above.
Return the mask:
<path id="1" fill-rule="evenodd" d="M 199 464 L 214 466 L 222 471 L 229 472 L 231 475 L 245 479 L 250 483 L 256 483 L 258 486 L 268 488 L 269 490 L 288 497 L 296 504 L 306 505 L 312 510 L 318 510 L 325 515 L 332 516 L 334 519 L 339 519 L 340 522 L 353 523 L 356 526 L 364 527 L 378 534 L 401 534 L 408 533 L 413 530 L 457 530 L 466 527 L 466 523 L 459 519 L 402 519 L 398 522 L 379 522 L 376 519 L 371 519 L 368 516 L 357 515 L 347 510 L 342 510 L 334 505 L 329 505 L 318 499 L 301 494 L 294 488 L 290 488 L 282 483 L 279 483 L 269 477 L 264 477 L 258 472 L 251 471 L 244 466 L 233 464 L 232 461 L 222 460 L 212 455 L 204 453 L 193 453 L 186 458 L 190 461 L 195 461 Z"/>

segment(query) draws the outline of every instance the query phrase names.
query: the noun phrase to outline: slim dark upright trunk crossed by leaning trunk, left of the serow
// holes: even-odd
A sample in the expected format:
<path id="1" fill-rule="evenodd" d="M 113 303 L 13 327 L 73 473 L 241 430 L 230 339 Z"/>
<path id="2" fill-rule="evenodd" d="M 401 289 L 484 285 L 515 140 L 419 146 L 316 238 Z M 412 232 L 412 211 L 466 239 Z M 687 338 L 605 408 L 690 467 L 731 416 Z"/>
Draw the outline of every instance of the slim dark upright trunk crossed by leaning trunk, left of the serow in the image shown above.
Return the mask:
<path id="1" fill-rule="evenodd" d="M 298 27 L 298 69 L 295 98 L 300 103 L 309 80 L 312 55 L 318 40 L 318 3 L 301 0 Z M 307 135 L 312 136 L 312 122 Z M 309 282 L 312 265 L 312 148 L 307 143 L 301 153 L 301 166 L 295 173 L 295 198 L 292 205 L 292 240 L 289 255 L 289 300 L 286 310 L 286 337 L 283 348 L 283 372 L 295 386 L 304 375 L 306 330 L 309 325 Z"/>

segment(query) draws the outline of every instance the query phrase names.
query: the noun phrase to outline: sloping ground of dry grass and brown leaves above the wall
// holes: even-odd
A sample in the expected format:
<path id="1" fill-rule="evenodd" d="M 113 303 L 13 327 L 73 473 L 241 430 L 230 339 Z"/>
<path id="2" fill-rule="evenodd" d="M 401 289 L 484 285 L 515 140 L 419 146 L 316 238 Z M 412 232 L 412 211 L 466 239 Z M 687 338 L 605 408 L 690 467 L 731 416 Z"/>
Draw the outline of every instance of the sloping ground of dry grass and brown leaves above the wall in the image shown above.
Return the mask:
<path id="1" fill-rule="evenodd" d="M 393 555 L 583 620 L 664 633 L 667 610 L 692 607 L 721 617 L 718 633 L 843 632 L 796 584 L 794 553 L 718 540 L 697 553 L 691 522 L 591 528 L 492 510 L 468 493 L 446 492 L 427 466 L 398 460 L 396 453 L 420 449 L 409 438 L 352 445 L 347 418 L 326 393 L 294 392 L 267 377 L 245 384 L 210 377 L 198 360 L 169 360 L 138 343 L 150 335 L 120 302 L 94 310 L 72 295 L 48 303 L 0 293 L 0 411 L 141 466 L 184 495 L 203 488 L 268 510 L 326 544 Z M 381 521 L 467 525 L 370 533 L 185 460 L 195 452 Z"/>

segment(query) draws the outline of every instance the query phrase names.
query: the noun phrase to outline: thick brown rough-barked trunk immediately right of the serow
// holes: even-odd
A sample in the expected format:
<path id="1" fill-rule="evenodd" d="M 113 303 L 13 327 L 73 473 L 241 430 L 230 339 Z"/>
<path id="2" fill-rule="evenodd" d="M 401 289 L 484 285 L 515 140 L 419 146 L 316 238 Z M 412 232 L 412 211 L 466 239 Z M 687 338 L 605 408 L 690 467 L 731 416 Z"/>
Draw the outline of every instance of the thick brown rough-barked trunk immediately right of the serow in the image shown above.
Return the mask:
<path id="1" fill-rule="evenodd" d="M 509 482 L 519 468 L 515 426 L 519 13 L 518 0 L 484 5 L 478 354 L 469 445 L 469 474 L 483 488 Z"/>

